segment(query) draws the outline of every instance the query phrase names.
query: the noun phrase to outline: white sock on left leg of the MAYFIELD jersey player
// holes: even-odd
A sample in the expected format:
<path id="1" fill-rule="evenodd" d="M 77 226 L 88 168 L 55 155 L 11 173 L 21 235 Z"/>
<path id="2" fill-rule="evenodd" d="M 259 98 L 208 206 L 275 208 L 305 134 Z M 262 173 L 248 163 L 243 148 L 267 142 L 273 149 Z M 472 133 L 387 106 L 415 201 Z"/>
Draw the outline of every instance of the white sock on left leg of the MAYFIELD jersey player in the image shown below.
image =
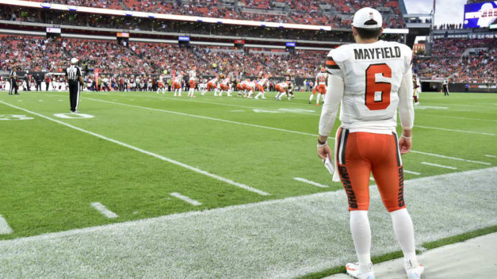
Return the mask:
<path id="1" fill-rule="evenodd" d="M 371 266 L 371 228 L 367 210 L 354 210 L 350 212 L 350 227 L 358 256 L 360 269 L 367 271 Z"/>

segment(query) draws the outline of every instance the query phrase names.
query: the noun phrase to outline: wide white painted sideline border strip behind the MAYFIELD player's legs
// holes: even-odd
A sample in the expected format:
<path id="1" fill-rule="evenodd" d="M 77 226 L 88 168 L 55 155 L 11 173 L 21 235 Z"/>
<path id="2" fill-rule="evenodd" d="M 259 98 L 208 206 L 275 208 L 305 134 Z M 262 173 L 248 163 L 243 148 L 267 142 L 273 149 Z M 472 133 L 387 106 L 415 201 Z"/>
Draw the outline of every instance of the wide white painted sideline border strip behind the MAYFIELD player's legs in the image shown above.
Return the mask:
<path id="1" fill-rule="evenodd" d="M 496 179 L 492 167 L 406 180 L 416 247 L 496 225 Z M 398 251 L 379 192 L 370 196 L 371 255 Z M 1 240 L 0 278 L 298 278 L 353 258 L 340 189 Z"/>

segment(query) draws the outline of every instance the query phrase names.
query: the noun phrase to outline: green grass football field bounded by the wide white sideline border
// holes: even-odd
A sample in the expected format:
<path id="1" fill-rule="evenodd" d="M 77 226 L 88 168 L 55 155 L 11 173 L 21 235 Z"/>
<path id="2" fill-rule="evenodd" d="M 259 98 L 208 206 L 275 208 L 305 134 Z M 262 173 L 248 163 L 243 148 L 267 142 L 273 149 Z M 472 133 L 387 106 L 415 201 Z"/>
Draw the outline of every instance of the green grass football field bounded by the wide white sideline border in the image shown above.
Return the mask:
<path id="1" fill-rule="evenodd" d="M 75 115 L 68 92 L 1 92 L 0 240 L 342 189 L 309 92 L 196 95 L 83 92 Z M 420 103 L 406 180 L 497 165 L 497 94 Z"/>

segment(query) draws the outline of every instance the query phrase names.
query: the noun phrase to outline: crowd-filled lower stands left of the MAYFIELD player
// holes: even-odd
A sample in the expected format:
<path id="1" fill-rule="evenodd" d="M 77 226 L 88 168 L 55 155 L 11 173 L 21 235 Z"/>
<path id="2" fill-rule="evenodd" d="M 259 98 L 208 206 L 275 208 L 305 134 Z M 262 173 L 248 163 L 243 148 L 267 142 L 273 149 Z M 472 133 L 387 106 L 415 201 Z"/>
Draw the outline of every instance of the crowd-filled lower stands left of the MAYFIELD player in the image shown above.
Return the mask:
<path id="1" fill-rule="evenodd" d="M 200 46 L 186 49 L 164 43 L 131 43 L 127 48 L 115 41 L 3 36 L 0 37 L 0 69 L 9 70 L 11 65 L 17 65 L 30 71 L 62 72 L 75 56 L 90 69 L 113 74 L 159 74 L 166 69 L 186 72 L 195 65 L 199 72 L 210 75 L 232 72 L 255 76 L 264 71 L 282 76 L 290 69 L 297 76 L 314 76 L 327 55 L 325 51 L 298 50 L 295 55 L 268 55 L 215 49 Z M 214 68 L 213 63 L 217 67 Z"/>

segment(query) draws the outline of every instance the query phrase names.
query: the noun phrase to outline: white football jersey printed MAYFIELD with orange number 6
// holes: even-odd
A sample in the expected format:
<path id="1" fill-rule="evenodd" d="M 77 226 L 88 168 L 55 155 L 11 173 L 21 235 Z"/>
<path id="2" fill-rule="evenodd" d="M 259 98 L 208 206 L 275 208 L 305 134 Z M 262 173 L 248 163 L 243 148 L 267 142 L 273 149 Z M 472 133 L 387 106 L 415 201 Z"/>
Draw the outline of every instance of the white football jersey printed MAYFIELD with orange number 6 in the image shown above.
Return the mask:
<path id="1" fill-rule="evenodd" d="M 342 127 L 391 134 L 397 126 L 398 90 L 411 76 L 412 51 L 396 42 L 353 43 L 331 50 L 327 72 L 344 81 Z"/>

